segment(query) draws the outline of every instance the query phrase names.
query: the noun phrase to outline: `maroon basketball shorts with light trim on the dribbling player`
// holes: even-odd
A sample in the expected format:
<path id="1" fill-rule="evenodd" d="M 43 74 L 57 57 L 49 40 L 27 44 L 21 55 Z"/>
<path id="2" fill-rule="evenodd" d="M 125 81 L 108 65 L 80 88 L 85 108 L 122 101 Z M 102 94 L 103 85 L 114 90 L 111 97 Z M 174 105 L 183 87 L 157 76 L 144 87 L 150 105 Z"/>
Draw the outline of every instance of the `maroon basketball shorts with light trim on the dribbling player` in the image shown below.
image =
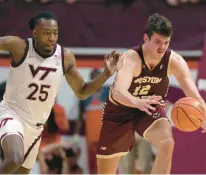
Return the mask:
<path id="1" fill-rule="evenodd" d="M 127 154 L 135 144 L 135 131 L 144 137 L 149 127 L 159 119 L 167 119 L 161 106 L 150 116 L 138 109 L 114 104 L 108 99 L 103 108 L 97 158 Z"/>

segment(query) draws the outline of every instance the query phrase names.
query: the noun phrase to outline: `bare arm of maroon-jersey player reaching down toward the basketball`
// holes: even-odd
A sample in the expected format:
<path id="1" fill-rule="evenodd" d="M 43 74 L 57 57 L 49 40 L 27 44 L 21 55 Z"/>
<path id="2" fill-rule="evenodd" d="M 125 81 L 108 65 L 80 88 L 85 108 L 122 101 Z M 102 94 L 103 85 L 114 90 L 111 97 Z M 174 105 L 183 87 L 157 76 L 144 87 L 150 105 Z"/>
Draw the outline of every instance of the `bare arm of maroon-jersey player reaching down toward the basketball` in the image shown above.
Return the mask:
<path id="1" fill-rule="evenodd" d="M 169 70 L 169 74 L 176 77 L 185 95 L 199 100 L 199 102 L 202 104 L 202 107 L 206 111 L 205 102 L 200 96 L 197 86 L 195 85 L 195 82 L 190 75 L 190 70 L 186 61 L 175 52 L 171 57 L 171 64 Z"/>

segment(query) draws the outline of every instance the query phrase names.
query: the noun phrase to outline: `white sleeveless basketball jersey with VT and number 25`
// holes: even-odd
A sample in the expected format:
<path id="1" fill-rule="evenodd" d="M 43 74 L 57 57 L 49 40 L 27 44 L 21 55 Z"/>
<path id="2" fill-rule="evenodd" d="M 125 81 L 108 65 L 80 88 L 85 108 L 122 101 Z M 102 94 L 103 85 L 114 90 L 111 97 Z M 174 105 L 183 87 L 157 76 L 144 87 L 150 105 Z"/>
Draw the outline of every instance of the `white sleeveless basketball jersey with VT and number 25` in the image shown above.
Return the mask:
<path id="1" fill-rule="evenodd" d="M 31 125 L 43 124 L 49 117 L 64 75 L 63 48 L 45 57 L 27 39 L 24 58 L 18 65 L 11 62 L 3 104 Z"/>

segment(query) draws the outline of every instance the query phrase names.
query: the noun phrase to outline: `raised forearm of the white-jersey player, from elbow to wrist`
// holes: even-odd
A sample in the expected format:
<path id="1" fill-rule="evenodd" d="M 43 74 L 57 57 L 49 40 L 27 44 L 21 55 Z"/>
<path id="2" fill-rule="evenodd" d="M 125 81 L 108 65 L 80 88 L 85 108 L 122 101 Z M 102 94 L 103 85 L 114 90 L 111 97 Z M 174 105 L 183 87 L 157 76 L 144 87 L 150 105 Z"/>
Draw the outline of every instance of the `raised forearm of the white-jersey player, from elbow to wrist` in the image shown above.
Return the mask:
<path id="1" fill-rule="evenodd" d="M 79 98 L 86 99 L 94 94 L 108 80 L 109 77 L 108 72 L 104 71 L 95 79 L 85 83 L 79 92 Z"/>

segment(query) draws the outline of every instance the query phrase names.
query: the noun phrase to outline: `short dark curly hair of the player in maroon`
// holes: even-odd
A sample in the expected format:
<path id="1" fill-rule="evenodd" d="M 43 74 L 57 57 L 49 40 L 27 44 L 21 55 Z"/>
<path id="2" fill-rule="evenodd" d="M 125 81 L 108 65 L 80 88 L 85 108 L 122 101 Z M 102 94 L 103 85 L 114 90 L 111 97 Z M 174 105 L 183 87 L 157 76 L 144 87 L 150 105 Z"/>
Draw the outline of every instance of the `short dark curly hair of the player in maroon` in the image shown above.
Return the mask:
<path id="1" fill-rule="evenodd" d="M 166 37 L 172 36 L 173 28 L 171 21 L 158 13 L 153 14 L 147 21 L 145 33 L 151 38 L 154 32 Z"/>

